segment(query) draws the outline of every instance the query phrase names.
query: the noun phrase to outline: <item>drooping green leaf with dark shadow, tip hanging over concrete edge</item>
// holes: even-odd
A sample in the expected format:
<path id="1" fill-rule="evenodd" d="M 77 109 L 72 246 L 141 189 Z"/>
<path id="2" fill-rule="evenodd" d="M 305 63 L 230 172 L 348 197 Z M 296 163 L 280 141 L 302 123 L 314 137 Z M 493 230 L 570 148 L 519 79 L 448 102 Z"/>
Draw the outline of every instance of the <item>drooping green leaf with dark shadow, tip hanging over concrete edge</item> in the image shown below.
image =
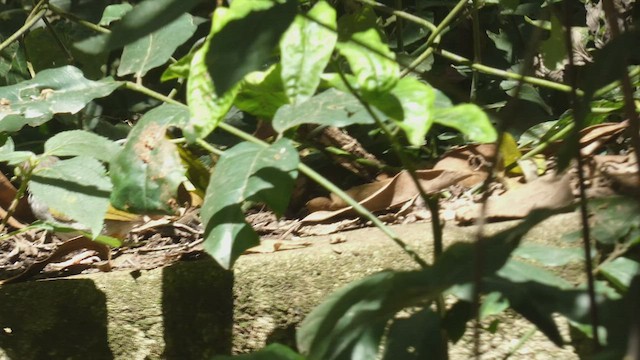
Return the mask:
<path id="1" fill-rule="evenodd" d="M 298 153 L 287 139 L 269 147 L 243 142 L 220 156 L 207 187 L 201 218 L 204 248 L 225 269 L 259 244 L 244 220 L 245 201 L 265 203 L 276 214 L 287 207 L 297 177 Z"/>

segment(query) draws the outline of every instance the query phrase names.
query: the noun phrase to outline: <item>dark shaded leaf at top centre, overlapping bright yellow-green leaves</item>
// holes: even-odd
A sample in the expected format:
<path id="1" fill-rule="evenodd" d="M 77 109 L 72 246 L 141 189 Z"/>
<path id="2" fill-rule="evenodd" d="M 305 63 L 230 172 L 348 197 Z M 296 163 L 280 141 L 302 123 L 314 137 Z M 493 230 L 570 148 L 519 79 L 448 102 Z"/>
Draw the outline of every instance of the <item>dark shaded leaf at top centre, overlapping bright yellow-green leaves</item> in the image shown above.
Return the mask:
<path id="1" fill-rule="evenodd" d="M 218 96 L 271 58 L 280 37 L 293 22 L 295 0 L 235 0 L 224 24 L 212 29 L 206 65 Z M 214 25 L 214 27 L 217 27 Z"/>

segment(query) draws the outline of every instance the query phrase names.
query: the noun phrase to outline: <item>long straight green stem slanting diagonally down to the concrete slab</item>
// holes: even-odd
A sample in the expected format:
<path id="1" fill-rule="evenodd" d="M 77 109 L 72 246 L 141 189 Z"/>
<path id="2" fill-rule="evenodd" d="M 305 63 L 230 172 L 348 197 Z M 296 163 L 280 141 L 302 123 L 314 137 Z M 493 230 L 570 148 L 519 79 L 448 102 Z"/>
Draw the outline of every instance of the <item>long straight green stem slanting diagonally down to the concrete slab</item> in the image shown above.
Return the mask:
<path id="1" fill-rule="evenodd" d="M 142 94 L 145 94 L 149 97 L 152 97 L 154 99 L 169 103 L 169 104 L 175 104 L 175 105 L 182 105 L 185 106 L 183 103 L 174 100 L 170 97 L 167 97 L 163 94 L 160 94 L 158 92 L 155 92 L 143 85 L 140 84 L 136 84 L 130 81 L 125 81 L 123 83 L 124 87 L 129 89 L 129 90 L 133 90 L 133 91 L 137 91 L 140 92 Z M 221 122 L 220 124 L 218 124 L 218 128 L 242 139 L 245 141 L 249 141 L 252 142 L 254 144 L 258 144 L 260 146 L 269 146 L 269 144 L 265 141 L 262 141 L 250 134 L 247 134 L 246 132 L 235 128 L 232 125 L 229 125 L 227 123 Z M 196 142 L 202 146 L 204 149 L 209 149 L 211 146 L 204 140 L 202 139 L 198 139 L 196 140 Z M 387 235 L 393 242 L 395 242 L 396 244 L 398 244 L 398 246 L 400 246 L 416 263 L 418 263 L 421 267 L 427 267 L 428 264 L 420 257 L 420 255 L 418 255 L 418 253 L 408 244 L 406 244 L 404 241 L 402 241 L 402 239 L 400 239 L 398 237 L 398 235 L 396 235 L 396 233 L 391 230 L 391 228 L 389 228 L 387 225 L 385 225 L 380 219 L 378 219 L 374 214 L 372 214 L 369 210 L 367 210 L 364 206 L 360 205 L 357 201 L 355 201 L 352 197 L 350 197 L 347 193 L 345 193 L 344 191 L 342 191 L 342 189 L 340 189 L 339 187 L 337 187 L 335 184 L 333 184 L 331 181 L 327 180 L 324 176 L 320 175 L 319 173 L 317 173 L 315 170 L 311 169 L 310 167 L 308 167 L 307 165 L 300 163 L 298 164 L 298 170 L 305 174 L 306 176 L 308 176 L 309 178 L 311 178 L 312 180 L 316 181 L 319 185 L 321 185 L 322 187 L 324 187 L 325 189 L 327 189 L 328 191 L 336 194 L 340 199 L 342 199 L 345 203 L 347 203 L 348 205 L 350 205 L 351 207 L 353 207 L 353 209 L 358 212 L 360 215 L 362 215 L 364 218 L 366 218 L 367 220 L 371 221 L 373 223 L 373 225 L 375 225 L 378 229 L 380 229 L 385 235 Z"/>

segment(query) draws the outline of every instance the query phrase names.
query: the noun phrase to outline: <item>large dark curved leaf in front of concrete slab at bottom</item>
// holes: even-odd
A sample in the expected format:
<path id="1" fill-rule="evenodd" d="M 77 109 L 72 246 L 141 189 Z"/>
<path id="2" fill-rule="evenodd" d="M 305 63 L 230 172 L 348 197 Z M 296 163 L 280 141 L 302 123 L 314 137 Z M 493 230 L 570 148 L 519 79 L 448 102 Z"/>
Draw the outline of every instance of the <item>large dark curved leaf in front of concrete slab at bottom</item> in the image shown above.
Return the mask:
<path id="1" fill-rule="evenodd" d="M 482 274 L 489 276 L 500 269 L 522 236 L 549 214 L 532 212 L 523 223 L 484 239 Z M 297 334 L 298 348 L 309 359 L 337 358 L 358 334 L 381 320 L 432 300 L 453 285 L 471 282 L 478 271 L 476 250 L 475 244 L 456 243 L 426 269 L 383 271 L 348 284 L 304 319 Z"/>

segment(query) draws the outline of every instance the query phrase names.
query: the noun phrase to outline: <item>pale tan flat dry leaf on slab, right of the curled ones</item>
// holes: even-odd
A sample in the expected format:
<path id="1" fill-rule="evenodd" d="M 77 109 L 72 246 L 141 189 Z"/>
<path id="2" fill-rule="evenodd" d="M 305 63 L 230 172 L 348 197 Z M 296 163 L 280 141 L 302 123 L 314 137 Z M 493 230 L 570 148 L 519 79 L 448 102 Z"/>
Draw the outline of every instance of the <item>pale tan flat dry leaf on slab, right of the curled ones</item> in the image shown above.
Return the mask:
<path id="1" fill-rule="evenodd" d="M 560 209 L 573 202 L 569 176 L 544 176 L 528 184 L 489 198 L 486 217 L 488 220 L 520 219 L 534 209 Z M 458 222 L 467 224 L 480 216 L 481 205 L 457 211 Z"/>

